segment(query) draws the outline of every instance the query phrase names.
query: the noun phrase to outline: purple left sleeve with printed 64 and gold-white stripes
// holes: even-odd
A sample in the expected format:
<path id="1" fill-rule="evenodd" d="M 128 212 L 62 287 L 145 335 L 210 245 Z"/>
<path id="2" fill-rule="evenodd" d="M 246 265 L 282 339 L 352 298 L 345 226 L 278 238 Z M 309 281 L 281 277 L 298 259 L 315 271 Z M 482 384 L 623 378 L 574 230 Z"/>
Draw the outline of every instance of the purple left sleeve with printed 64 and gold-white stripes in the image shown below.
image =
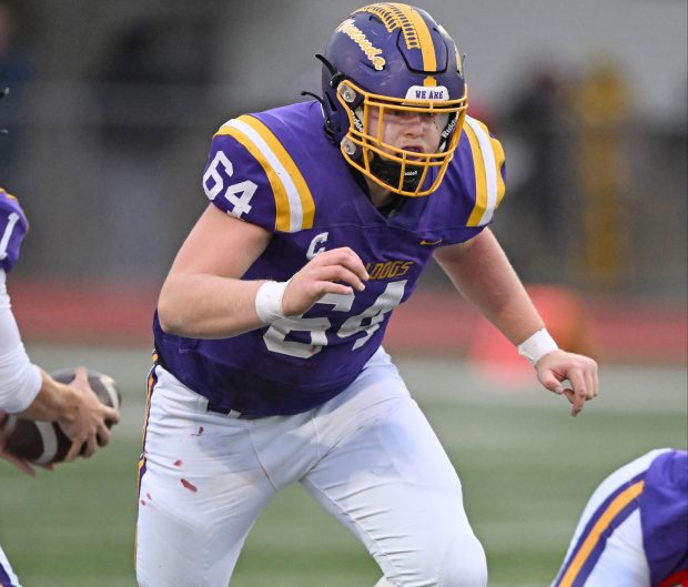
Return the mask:
<path id="1" fill-rule="evenodd" d="M 232 119 L 215 133 L 203 189 L 223 212 L 271 232 L 313 224 L 312 199 L 292 156 L 255 117 Z"/>

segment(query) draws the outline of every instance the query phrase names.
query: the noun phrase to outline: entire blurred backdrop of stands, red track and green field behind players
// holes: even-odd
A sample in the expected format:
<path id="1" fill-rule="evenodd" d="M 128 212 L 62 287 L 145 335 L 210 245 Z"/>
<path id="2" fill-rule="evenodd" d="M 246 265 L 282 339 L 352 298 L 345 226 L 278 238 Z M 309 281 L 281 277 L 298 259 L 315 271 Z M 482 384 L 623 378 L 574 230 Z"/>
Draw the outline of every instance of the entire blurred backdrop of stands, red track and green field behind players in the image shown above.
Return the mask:
<path id="1" fill-rule="evenodd" d="M 31 222 L 9 282 L 13 306 L 37 362 L 111 372 L 128 411 L 119 444 L 98 464 L 65 467 L 42 484 L 0 464 L 0 543 L 20 575 L 33 578 L 24 587 L 133 584 L 130 492 L 150 322 L 173 256 L 206 205 L 201 176 L 210 140 L 232 117 L 317 92 L 313 54 L 360 6 L 0 0 L 0 87 L 11 90 L 0 108 L 0 129 L 9 130 L 0 138 L 0 185 L 19 196 Z M 538 403 L 548 398 L 510 345 L 436 267 L 395 314 L 386 346 L 403 357 L 412 389 L 462 463 L 464 484 L 476 488 L 475 524 L 495 553 L 494 585 L 545 585 L 600 475 L 658 443 L 686 447 L 687 6 L 422 6 L 466 55 L 469 112 L 505 146 L 507 192 L 494 230 L 555 336 L 600 361 L 608 394 L 577 429 L 565 406 L 557 404 L 555 416 Z M 585 458 L 568 453 L 570 443 Z M 506 472 L 498 485 L 506 502 L 484 490 L 497 470 Z M 544 487 L 545 496 L 535 490 Z M 119 504 L 117 523 L 98 507 L 101 490 Z M 300 528 L 293 513 L 314 508 L 300 499 L 281 502 L 264 527 L 283 520 L 287 535 Z M 39 512 L 53 534 L 22 525 Z M 92 525 L 75 525 L 89 516 Z M 115 550 L 104 544 L 113 536 L 97 532 L 103 516 L 117 528 Z M 525 540 L 524 528 L 537 539 Z M 352 561 L 365 560 L 357 546 L 341 538 L 346 546 L 337 549 L 336 529 L 327 530 L 327 551 L 322 534 L 302 529 L 314 538 L 300 548 L 333 566 L 315 568 L 290 551 L 275 565 L 274 585 L 375 583 L 366 563 L 356 575 Z M 270 566 L 264 553 L 284 551 L 277 534 L 261 532 L 249 543 L 240 586 L 261 585 L 259 571 Z M 89 548 L 99 553 L 93 573 L 110 569 L 98 581 L 73 571 L 89 568 Z M 304 567 L 308 579 L 299 575 Z M 332 568 L 343 583 L 322 578 Z M 293 574 L 280 575 L 285 569 Z"/>

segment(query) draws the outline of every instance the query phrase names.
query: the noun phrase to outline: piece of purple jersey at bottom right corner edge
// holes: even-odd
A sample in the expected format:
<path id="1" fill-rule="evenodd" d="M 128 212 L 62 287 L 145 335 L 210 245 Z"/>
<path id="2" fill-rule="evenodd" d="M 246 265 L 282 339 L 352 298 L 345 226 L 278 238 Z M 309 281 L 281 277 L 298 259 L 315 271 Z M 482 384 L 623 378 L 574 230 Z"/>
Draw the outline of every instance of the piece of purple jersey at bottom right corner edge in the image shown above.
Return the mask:
<path id="1" fill-rule="evenodd" d="M 652 587 L 671 573 L 688 569 L 688 453 L 685 451 L 662 453 L 647 469 L 640 495 L 640 523 Z"/>

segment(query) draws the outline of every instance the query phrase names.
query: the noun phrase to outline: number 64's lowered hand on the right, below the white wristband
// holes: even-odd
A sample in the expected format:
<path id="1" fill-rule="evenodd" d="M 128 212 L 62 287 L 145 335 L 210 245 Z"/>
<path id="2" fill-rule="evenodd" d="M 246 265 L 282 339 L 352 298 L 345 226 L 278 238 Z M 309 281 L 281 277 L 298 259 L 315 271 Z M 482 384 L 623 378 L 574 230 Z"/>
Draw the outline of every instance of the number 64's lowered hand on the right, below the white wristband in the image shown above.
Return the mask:
<path id="1" fill-rule="evenodd" d="M 535 368 L 537 378 L 547 389 L 565 395 L 573 404 L 571 416 L 577 416 L 585 403 L 598 394 L 597 363 L 587 356 L 559 348 L 542 357 Z M 568 387 L 564 385 L 565 381 L 568 381 Z"/>

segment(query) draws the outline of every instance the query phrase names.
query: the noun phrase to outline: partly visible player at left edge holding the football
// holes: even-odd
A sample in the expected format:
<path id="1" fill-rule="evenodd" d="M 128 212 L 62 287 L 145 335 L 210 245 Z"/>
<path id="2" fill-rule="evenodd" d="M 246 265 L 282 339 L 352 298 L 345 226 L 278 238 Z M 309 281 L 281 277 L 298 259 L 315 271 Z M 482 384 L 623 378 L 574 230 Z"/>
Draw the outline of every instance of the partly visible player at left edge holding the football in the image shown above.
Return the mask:
<path id="1" fill-rule="evenodd" d="M 0 91 L 0 98 L 6 91 Z M 107 407 L 92 393 L 87 371 L 78 370 L 77 378 L 65 385 L 31 363 L 21 341 L 7 292 L 7 274 L 19 257 L 28 223 L 18 200 L 0 188 L 0 457 L 28 475 L 36 470 L 27 461 L 6 449 L 4 421 L 8 413 L 23 418 L 57 422 L 72 441 L 65 461 L 81 453 L 91 456 L 108 444 L 107 421 L 118 422 L 115 409 Z M 19 581 L 0 548 L 0 585 L 18 586 Z"/>

